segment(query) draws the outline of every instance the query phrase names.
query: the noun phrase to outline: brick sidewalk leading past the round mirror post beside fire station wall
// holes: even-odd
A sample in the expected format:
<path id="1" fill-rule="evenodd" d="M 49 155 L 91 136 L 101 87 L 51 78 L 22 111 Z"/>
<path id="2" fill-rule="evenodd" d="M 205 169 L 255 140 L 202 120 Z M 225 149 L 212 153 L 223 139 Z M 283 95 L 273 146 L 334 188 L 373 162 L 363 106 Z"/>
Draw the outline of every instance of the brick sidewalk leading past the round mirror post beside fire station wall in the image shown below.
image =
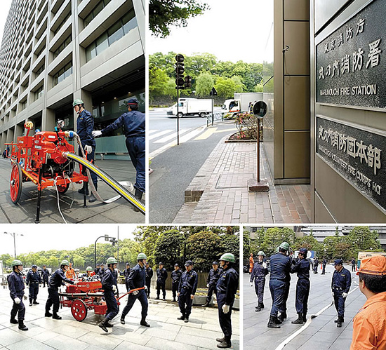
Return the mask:
<path id="1" fill-rule="evenodd" d="M 174 224 L 310 222 L 310 185 L 274 186 L 260 145 L 260 177 L 269 182 L 269 192 L 248 192 L 248 179 L 256 177 L 256 144 L 225 139 L 187 187 Z"/>

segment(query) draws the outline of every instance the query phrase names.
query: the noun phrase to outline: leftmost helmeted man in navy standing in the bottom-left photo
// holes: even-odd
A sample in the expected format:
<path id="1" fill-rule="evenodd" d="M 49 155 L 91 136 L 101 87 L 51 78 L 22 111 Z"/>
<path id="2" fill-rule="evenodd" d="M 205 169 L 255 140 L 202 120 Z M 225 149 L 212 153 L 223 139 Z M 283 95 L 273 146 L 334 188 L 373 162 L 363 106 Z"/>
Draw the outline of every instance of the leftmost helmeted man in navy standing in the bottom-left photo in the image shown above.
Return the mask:
<path id="1" fill-rule="evenodd" d="M 20 260 L 13 260 L 12 262 L 12 274 L 7 277 L 9 295 L 13 300 L 13 307 L 11 310 L 11 323 L 19 324 L 20 330 L 28 330 L 24 324 L 25 306 L 22 302 L 24 295 L 24 281 L 22 278 L 22 262 Z M 16 315 L 18 315 L 18 321 L 16 321 Z"/>

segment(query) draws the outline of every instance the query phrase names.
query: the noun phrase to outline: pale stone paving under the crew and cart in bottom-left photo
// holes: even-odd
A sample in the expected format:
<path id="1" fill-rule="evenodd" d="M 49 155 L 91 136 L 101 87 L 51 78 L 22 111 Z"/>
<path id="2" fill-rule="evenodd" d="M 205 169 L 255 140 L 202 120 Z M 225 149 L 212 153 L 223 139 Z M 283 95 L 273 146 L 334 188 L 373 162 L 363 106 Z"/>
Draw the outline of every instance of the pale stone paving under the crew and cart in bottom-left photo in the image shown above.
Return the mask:
<path id="1" fill-rule="evenodd" d="M 124 291 L 124 285 L 119 287 Z M 170 291 L 168 291 L 170 292 Z M 121 325 L 119 317 L 126 304 L 121 299 L 119 315 L 112 323 L 114 328 L 103 332 L 97 323 L 102 316 L 95 316 L 89 310 L 82 322 L 75 321 L 70 308 L 60 309 L 62 320 L 44 317 L 44 305 L 48 296 L 47 288 L 40 288 L 39 305 L 26 305 L 26 332 L 18 330 L 18 325 L 9 323 L 12 307 L 9 290 L 0 286 L 0 349 L 1 350 L 204 350 L 217 349 L 216 337 L 222 337 L 218 324 L 218 309 L 193 307 L 189 323 L 177 320 L 180 316 L 178 305 L 171 302 L 149 299 L 147 321 L 150 328 L 140 326 L 140 302 L 126 316 L 126 325 Z M 239 312 L 233 311 L 232 326 L 234 336 L 232 349 L 239 349 Z"/>

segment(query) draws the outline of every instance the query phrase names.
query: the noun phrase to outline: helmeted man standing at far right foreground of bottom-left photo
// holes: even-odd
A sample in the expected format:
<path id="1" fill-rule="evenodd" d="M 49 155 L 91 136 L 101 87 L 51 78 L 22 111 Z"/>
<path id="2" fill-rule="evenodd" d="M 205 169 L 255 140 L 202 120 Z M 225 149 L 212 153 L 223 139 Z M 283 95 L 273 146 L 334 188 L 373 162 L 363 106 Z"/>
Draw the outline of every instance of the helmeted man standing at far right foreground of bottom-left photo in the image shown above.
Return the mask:
<path id="1" fill-rule="evenodd" d="M 230 348 L 232 346 L 232 307 L 234 297 L 237 293 L 237 285 L 239 285 L 239 274 L 233 268 L 234 255 L 225 253 L 220 257 L 222 271 L 217 282 L 217 304 L 218 304 L 218 320 L 220 327 L 224 333 L 224 337 L 217 338 L 219 342 L 217 347 L 220 349 Z"/>

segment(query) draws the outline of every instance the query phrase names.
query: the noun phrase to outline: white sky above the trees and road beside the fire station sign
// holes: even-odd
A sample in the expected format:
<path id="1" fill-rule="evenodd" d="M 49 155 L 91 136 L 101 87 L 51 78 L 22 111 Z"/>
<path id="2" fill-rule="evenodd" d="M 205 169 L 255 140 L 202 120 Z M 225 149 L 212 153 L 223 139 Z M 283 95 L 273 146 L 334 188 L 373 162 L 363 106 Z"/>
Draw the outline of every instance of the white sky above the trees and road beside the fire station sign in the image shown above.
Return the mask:
<path id="1" fill-rule="evenodd" d="M 203 0 L 204 1 L 204 0 Z M 272 26 L 273 1 L 206 0 L 211 7 L 187 27 L 171 27 L 166 39 L 147 37 L 147 52 L 213 53 L 219 60 L 262 63 Z M 273 17 L 273 13 L 272 13 Z"/>

